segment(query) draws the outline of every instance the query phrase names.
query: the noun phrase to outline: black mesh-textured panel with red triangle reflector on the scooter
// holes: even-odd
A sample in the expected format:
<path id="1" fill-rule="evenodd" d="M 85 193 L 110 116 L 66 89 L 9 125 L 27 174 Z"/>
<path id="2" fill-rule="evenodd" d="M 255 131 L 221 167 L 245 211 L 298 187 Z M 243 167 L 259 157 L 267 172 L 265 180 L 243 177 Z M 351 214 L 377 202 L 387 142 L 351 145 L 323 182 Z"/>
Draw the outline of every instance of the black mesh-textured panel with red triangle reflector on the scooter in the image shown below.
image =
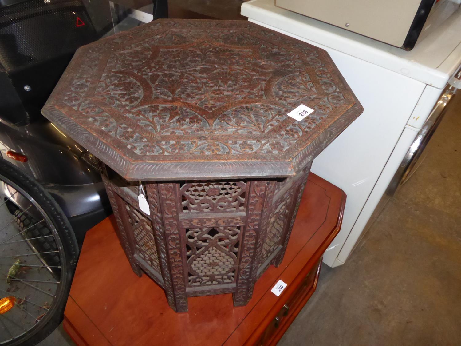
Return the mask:
<path id="1" fill-rule="evenodd" d="M 0 8 L 0 64 L 7 72 L 71 53 L 97 38 L 78 0 L 29 0 Z"/>

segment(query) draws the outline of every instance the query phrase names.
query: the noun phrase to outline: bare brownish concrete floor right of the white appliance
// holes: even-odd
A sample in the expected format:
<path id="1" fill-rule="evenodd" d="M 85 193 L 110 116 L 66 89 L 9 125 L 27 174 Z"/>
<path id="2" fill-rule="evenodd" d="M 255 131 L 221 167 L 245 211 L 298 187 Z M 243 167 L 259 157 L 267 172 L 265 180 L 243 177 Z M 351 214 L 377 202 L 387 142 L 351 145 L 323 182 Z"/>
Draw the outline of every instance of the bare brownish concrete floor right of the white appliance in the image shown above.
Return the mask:
<path id="1" fill-rule="evenodd" d="M 279 346 L 461 345 L 461 95 L 426 159 Z"/>

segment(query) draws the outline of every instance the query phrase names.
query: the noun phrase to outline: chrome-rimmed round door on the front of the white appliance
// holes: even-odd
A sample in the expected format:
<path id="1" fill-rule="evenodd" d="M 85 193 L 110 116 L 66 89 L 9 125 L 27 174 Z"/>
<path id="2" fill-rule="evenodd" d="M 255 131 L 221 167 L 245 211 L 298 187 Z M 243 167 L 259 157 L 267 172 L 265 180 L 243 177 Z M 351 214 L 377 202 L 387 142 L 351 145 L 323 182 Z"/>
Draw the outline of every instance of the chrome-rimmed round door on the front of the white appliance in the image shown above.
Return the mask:
<path id="1" fill-rule="evenodd" d="M 458 73 L 458 75 L 461 74 Z M 443 90 L 442 95 L 438 99 L 436 105 L 432 109 L 431 114 L 427 118 L 421 130 L 416 135 L 413 144 L 408 149 L 402 163 L 398 167 L 394 177 L 390 181 L 390 184 L 386 190 L 386 194 L 390 197 L 394 196 L 400 186 L 402 186 L 419 167 L 421 162 L 424 160 L 424 156 L 421 157 L 427 143 L 431 139 L 440 121 L 443 119 L 443 115 L 446 112 L 447 106 L 453 97 L 455 96 L 456 88 L 452 85 L 447 85 Z"/>

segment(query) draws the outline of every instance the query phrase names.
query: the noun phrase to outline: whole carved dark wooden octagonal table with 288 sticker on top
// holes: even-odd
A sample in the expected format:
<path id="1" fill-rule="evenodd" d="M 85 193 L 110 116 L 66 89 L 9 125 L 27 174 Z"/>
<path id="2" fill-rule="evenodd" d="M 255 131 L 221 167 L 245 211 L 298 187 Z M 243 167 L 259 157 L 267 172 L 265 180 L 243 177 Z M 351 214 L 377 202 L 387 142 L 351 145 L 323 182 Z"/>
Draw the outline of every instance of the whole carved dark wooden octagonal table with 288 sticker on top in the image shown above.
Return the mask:
<path id="1" fill-rule="evenodd" d="M 313 113 L 287 115 L 301 104 Z M 248 303 L 283 259 L 313 158 L 362 107 L 322 49 L 162 19 L 80 48 L 42 112 L 100 160 L 133 270 L 179 312 L 191 296 Z"/>

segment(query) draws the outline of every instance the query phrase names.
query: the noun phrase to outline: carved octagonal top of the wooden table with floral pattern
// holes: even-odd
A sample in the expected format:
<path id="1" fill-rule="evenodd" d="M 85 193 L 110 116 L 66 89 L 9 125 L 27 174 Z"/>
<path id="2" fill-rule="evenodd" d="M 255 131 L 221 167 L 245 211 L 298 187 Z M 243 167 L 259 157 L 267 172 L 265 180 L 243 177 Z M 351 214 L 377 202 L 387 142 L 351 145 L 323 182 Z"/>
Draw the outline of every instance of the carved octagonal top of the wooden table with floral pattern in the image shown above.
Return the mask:
<path id="1" fill-rule="evenodd" d="M 124 178 L 165 180 L 295 175 L 362 110 L 323 49 L 158 19 L 79 48 L 42 113 Z"/>

